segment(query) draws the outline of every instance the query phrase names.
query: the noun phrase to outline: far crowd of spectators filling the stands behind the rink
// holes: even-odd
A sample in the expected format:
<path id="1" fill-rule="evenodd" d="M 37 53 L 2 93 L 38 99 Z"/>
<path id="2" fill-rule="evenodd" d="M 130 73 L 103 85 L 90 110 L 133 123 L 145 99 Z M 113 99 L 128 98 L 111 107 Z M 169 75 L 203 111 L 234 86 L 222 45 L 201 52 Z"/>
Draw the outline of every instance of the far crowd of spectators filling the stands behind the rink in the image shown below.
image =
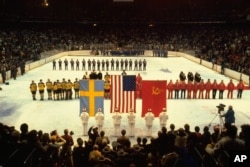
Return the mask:
<path id="1" fill-rule="evenodd" d="M 8 71 L 14 64 L 35 61 L 50 50 L 88 49 L 99 55 L 138 55 L 143 50 L 195 51 L 195 56 L 249 75 L 249 29 L 232 24 L 179 25 L 4 25 L 0 30 L 0 62 Z"/>

